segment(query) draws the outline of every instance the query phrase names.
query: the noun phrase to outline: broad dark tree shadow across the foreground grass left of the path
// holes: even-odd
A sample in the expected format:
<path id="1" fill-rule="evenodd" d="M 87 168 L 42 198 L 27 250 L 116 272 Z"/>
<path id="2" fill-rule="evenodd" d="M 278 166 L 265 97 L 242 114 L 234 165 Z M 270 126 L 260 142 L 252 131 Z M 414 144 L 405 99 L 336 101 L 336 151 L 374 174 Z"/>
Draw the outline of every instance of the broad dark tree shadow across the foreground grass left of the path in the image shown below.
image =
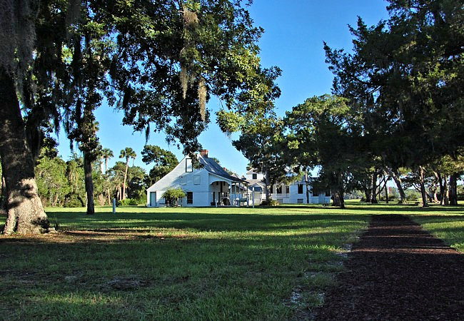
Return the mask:
<path id="1" fill-rule="evenodd" d="M 126 229 L 120 232 L 126 233 Z M 14 252 L 8 250 L 12 245 L 9 242 L 14 240 L 4 238 L 0 246 L 0 255 L 4 255 L 0 256 L 0 269 L 4 271 L 0 294 L 4 302 L 9 302 L 10 310 L 19 313 L 16 317 L 23 320 L 34 315 L 100 320 L 119 315 L 133 320 L 146 317 L 153 307 L 172 310 L 173 318 L 186 320 L 188 315 L 182 312 L 188 310 L 186 302 L 196 302 L 193 307 L 200 311 L 198 319 L 208 319 L 208 310 L 222 306 L 223 300 L 237 305 L 236 318 L 256 319 L 266 306 L 287 309 L 284 299 L 298 282 L 298 274 L 310 262 L 335 260 L 334 250 L 349 234 L 251 232 L 244 236 L 206 234 L 202 238 L 164 240 L 75 238 L 74 243 L 43 236 L 40 243 L 14 243 Z M 112 286 L 114 280 L 129 275 L 136 275 L 133 278 L 144 285 L 130 291 Z M 111 309 L 94 310 L 101 302 Z M 250 304 L 253 309 L 249 309 Z M 136 311 L 128 311 L 130 315 L 127 307 L 136 307 Z"/>

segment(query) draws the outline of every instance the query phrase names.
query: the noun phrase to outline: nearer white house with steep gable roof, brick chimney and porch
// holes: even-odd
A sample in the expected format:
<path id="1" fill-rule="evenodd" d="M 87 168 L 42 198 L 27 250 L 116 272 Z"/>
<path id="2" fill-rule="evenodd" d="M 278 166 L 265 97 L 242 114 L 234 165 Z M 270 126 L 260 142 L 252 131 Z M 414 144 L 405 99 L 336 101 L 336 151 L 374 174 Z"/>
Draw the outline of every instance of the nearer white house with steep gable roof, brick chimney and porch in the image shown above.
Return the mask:
<path id="1" fill-rule="evenodd" d="M 186 198 L 182 206 L 236 205 L 237 200 L 248 199 L 246 180 L 229 175 L 213 158 L 208 158 L 208 151 L 201 151 L 197 156 L 202 168 L 193 168 L 189 156 L 146 190 L 148 207 L 164 206 L 161 197 L 168 188 L 181 188 Z"/>

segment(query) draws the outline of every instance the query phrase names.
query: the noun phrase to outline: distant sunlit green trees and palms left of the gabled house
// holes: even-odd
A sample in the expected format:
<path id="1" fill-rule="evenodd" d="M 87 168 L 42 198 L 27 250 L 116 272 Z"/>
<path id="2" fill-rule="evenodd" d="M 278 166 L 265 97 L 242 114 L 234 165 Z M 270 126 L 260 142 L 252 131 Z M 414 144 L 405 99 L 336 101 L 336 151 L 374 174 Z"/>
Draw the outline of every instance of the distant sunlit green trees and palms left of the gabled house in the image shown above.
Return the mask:
<path id="1" fill-rule="evenodd" d="M 57 155 L 54 148 L 42 148 L 37 158 L 35 175 L 41 203 L 44 206 L 86 206 L 84 158 L 73 153 L 68 161 L 64 161 Z M 126 156 L 136 157 L 132 148 L 121 150 L 120 158 L 124 161 L 116 161 L 111 168 L 108 168 L 108 161 L 113 157 L 113 152 L 108 148 L 102 150 L 99 158 L 91 163 L 93 197 L 98 205 L 111 205 L 113 199 L 118 203 L 126 199 L 133 203 L 146 203 L 146 188 L 178 164 L 173 153 L 158 146 L 145 146 L 142 155 L 147 165 L 157 161 L 149 173 L 139 166 L 129 165 Z M 5 191 L 2 186 L 2 204 Z"/>

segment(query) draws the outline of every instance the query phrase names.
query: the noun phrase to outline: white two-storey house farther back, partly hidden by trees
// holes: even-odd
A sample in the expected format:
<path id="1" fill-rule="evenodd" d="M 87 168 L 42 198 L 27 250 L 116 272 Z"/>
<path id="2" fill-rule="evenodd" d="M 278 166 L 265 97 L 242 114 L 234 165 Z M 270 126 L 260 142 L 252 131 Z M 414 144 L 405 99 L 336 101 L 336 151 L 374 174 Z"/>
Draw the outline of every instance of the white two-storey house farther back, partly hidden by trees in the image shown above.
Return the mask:
<path id="1" fill-rule="evenodd" d="M 255 191 L 255 204 L 259 204 L 262 200 L 266 200 L 263 178 L 263 173 L 260 173 L 258 170 L 254 168 L 248 170 L 248 172 L 246 173 L 246 181 L 248 182 L 248 188 Z M 330 191 L 319 191 L 314 189 L 311 184 L 312 180 L 313 178 L 308 179 L 309 204 L 331 203 Z M 306 197 L 306 182 L 304 178 L 291 184 L 279 183 L 276 185 L 272 185 L 271 198 L 273 200 L 277 200 L 278 203 L 281 204 L 308 204 L 308 199 Z"/>

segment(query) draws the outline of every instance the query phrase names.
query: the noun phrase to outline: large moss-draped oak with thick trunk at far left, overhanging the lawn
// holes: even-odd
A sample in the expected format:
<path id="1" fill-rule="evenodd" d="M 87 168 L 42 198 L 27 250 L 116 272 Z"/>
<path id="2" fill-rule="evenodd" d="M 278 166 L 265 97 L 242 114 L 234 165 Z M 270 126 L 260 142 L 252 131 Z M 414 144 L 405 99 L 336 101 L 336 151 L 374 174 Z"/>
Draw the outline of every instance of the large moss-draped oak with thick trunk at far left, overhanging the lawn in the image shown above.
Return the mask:
<path id="1" fill-rule="evenodd" d="M 147 133 L 163 130 L 191 153 L 200 148 L 196 138 L 208 123 L 211 95 L 247 112 L 248 101 L 271 90 L 256 44 L 263 30 L 242 1 L 9 0 L 1 9 L 6 233 L 39 233 L 49 225 L 37 196 L 34 153 L 41 123 L 54 118 L 58 126 L 62 108 L 71 108 L 69 119 L 84 133 L 107 96 L 124 111 L 124 123 Z M 101 42 L 92 39 L 114 42 L 114 51 L 96 50 Z M 111 78 L 111 91 L 100 86 L 101 75 Z M 94 140 L 91 131 L 80 133 L 82 146 Z"/>

